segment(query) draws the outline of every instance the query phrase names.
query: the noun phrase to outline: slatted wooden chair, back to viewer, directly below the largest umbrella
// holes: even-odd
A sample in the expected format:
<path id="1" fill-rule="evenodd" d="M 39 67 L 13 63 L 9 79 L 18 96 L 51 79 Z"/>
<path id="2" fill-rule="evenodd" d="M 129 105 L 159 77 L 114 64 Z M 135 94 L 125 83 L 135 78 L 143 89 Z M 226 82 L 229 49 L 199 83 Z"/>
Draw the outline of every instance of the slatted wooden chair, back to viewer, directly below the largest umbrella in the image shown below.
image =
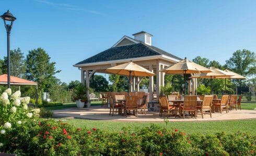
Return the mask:
<path id="1" fill-rule="evenodd" d="M 183 113 L 183 119 L 185 119 L 185 111 L 191 112 L 191 118 L 193 113 L 196 119 L 196 95 L 185 95 L 183 106 L 180 106 L 180 110 Z"/>

